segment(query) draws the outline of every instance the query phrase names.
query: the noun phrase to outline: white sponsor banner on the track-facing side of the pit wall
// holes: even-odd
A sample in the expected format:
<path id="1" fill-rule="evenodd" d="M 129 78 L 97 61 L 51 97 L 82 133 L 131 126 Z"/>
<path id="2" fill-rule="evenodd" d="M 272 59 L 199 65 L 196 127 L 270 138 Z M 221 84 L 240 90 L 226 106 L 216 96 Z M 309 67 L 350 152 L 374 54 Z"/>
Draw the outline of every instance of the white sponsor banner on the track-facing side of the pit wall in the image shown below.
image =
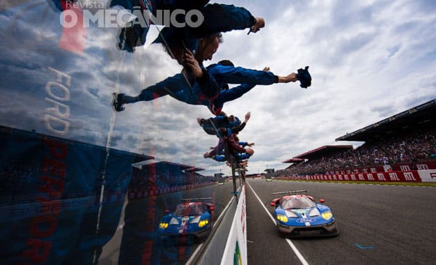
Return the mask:
<path id="1" fill-rule="evenodd" d="M 221 259 L 221 265 L 247 264 L 247 222 L 245 212 L 245 185 L 242 186 L 235 217 L 228 234 L 226 248 Z"/>

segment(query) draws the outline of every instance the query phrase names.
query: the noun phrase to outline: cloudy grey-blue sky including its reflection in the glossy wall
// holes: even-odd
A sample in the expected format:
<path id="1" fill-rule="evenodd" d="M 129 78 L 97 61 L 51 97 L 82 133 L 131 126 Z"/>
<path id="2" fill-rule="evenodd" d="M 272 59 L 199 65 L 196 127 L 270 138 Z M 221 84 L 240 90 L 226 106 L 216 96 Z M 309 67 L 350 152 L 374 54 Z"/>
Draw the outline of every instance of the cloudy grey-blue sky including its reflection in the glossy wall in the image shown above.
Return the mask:
<path id="1" fill-rule="evenodd" d="M 10 2 L 10 6 L 8 6 Z M 90 2 L 90 1 L 88 1 Z M 97 1 L 100 2 L 100 1 Z M 243 6 L 265 17 L 258 33 L 224 33 L 212 61 L 231 59 L 236 66 L 288 75 L 310 66 L 309 89 L 299 84 L 256 86 L 224 111 L 243 119 L 251 112 L 241 140 L 255 142 L 249 173 L 283 169 L 283 160 L 388 116 L 436 98 L 436 1 L 220 1 Z M 0 124 L 145 153 L 157 160 L 207 169 L 230 170 L 204 159 L 217 137 L 206 135 L 197 117 L 211 116 L 204 106 L 170 96 L 111 109 L 114 91 L 137 95 L 141 89 L 180 73 L 180 66 L 159 45 L 134 54 L 116 50 L 116 29 L 86 29 L 84 52 L 59 48 L 59 13 L 47 1 L 6 1 L 0 11 Z M 149 32 L 152 40 L 157 30 Z M 71 77 L 54 85 L 59 70 Z M 54 94 L 69 114 L 63 134 L 47 128 L 54 115 Z M 59 106 L 58 106 L 59 107 Z M 65 112 L 64 112 L 65 113 Z M 56 128 L 51 121 L 52 128 Z"/>

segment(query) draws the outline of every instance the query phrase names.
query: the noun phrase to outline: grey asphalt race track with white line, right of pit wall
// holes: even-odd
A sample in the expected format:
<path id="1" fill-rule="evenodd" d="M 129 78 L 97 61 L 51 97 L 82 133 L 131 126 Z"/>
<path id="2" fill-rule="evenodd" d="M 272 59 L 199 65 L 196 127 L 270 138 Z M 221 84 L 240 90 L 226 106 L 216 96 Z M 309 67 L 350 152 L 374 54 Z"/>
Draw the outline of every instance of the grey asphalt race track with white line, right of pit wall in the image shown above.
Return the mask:
<path id="1" fill-rule="evenodd" d="M 436 188 L 264 179 L 247 182 L 248 264 L 435 264 Z M 340 234 L 290 241 L 281 238 L 265 208 L 272 213 L 272 193 L 287 190 L 307 190 L 308 195 L 325 199 Z"/>

